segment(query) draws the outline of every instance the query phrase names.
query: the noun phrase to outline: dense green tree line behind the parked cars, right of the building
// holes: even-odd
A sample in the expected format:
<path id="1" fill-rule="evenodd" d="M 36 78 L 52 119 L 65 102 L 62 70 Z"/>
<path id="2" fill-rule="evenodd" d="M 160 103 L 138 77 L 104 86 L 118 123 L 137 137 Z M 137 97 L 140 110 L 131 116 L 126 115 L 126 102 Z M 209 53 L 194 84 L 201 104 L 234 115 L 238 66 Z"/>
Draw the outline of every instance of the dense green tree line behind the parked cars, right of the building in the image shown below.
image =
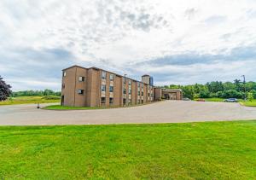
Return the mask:
<path id="1" fill-rule="evenodd" d="M 192 85 L 166 85 L 166 89 L 182 89 L 183 97 L 189 99 L 196 98 L 239 98 L 252 95 L 256 99 L 256 82 L 243 83 L 241 80 L 234 82 L 212 81 L 207 84 L 192 84 Z"/>

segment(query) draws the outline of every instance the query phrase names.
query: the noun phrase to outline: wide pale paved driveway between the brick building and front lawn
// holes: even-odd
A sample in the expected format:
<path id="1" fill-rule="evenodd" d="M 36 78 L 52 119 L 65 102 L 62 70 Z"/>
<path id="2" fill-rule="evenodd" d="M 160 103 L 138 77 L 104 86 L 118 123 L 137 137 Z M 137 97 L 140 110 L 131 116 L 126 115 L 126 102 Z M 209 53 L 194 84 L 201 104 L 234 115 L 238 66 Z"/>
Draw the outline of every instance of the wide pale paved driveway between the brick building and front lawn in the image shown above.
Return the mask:
<path id="1" fill-rule="evenodd" d="M 52 111 L 36 105 L 0 106 L 0 125 L 178 123 L 256 119 L 256 107 L 224 102 L 156 102 L 140 107 Z"/>

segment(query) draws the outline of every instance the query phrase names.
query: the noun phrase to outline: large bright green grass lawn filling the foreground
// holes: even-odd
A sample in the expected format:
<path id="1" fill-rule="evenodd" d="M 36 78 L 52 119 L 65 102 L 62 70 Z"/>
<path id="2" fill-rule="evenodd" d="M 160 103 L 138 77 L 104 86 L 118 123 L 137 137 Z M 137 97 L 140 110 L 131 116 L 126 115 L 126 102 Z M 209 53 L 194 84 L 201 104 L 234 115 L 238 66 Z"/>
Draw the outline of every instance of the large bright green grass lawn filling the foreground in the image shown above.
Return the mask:
<path id="1" fill-rule="evenodd" d="M 256 121 L 0 127 L 0 179 L 255 179 Z"/>

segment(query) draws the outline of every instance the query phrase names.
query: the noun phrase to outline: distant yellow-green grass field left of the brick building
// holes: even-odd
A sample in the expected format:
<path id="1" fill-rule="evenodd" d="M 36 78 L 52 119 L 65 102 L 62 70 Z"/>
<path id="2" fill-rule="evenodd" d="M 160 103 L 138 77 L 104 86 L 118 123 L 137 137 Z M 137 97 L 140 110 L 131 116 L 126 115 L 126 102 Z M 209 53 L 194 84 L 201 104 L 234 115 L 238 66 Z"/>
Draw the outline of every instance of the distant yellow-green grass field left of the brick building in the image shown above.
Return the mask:
<path id="1" fill-rule="evenodd" d="M 15 105 L 15 104 L 32 104 L 32 103 L 51 103 L 61 102 L 59 99 L 46 99 L 45 96 L 20 96 L 13 97 L 5 102 L 0 102 L 1 105 Z"/>

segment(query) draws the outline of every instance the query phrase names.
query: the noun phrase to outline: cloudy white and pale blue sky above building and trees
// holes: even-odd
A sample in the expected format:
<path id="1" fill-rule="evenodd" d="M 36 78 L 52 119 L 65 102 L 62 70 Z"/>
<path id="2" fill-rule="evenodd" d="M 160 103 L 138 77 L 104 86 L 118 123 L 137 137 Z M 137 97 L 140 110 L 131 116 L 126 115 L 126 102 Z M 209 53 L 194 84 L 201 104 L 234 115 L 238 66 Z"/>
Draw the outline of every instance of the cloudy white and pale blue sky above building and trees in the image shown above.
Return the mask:
<path id="1" fill-rule="evenodd" d="M 13 90 L 61 90 L 73 65 L 155 85 L 256 81 L 256 1 L 0 1 L 0 75 Z"/>

